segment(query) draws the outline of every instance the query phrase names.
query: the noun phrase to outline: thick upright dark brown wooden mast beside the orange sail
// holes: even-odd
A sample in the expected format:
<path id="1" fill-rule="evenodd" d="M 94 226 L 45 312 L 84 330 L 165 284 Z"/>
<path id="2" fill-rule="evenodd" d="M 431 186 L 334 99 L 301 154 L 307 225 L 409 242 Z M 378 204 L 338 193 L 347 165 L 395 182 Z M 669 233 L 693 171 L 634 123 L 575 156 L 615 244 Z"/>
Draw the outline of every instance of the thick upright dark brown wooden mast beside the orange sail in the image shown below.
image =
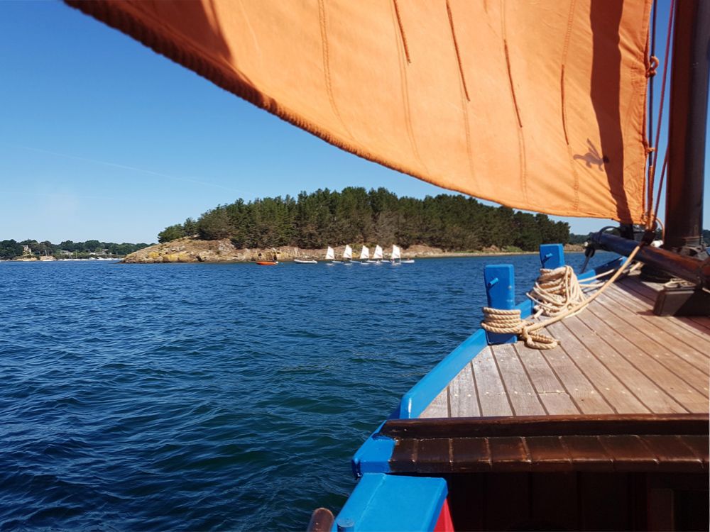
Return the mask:
<path id="1" fill-rule="evenodd" d="M 710 2 L 675 6 L 664 247 L 694 256 L 702 238 Z"/>

